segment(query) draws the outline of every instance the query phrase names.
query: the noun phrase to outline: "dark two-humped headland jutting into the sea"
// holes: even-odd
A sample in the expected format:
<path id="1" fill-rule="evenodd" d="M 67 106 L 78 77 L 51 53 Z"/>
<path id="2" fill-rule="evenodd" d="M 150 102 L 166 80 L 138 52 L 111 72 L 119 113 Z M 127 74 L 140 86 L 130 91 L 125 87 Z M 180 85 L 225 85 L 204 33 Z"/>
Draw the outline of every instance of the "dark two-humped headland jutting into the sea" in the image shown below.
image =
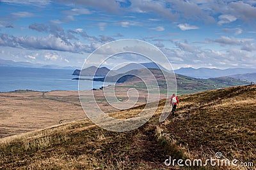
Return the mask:
<path id="1" fill-rule="evenodd" d="M 107 74 L 109 74 L 109 76 L 113 76 L 117 73 L 115 73 L 115 71 L 110 71 L 107 67 L 95 67 L 95 66 L 91 66 L 91 67 L 87 67 L 85 69 L 79 70 L 76 69 L 74 71 L 74 73 L 72 75 L 81 75 L 81 76 L 106 76 Z"/>

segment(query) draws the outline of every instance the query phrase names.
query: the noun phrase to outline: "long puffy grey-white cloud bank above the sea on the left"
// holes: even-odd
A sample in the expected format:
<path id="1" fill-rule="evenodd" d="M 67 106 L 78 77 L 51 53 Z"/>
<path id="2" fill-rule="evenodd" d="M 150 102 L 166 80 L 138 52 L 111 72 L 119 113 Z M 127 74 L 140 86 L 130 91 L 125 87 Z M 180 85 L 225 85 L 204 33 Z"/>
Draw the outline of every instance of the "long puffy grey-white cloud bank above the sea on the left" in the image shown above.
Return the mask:
<path id="1" fill-rule="evenodd" d="M 87 43 L 82 43 L 74 38 L 73 34 L 79 34 L 85 38 Z M 118 34 L 117 36 L 122 36 Z M 88 36 L 83 29 L 75 29 L 65 31 L 54 31 L 54 34 L 49 34 L 45 37 L 37 36 L 10 36 L 8 34 L 0 33 L 0 46 L 11 46 L 14 48 L 26 48 L 26 49 L 37 49 L 37 50 L 56 50 L 63 52 L 74 52 L 74 53 L 91 53 L 95 48 L 109 41 L 113 41 L 115 36 L 100 35 L 99 37 Z M 71 41 L 76 39 L 76 41 Z"/>

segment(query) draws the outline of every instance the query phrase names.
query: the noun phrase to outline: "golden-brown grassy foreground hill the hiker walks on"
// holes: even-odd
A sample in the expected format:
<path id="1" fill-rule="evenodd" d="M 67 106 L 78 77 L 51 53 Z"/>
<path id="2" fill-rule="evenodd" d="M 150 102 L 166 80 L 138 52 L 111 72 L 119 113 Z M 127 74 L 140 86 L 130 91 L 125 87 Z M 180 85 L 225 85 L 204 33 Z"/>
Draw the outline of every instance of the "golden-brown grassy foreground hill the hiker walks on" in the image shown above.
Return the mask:
<path id="1" fill-rule="evenodd" d="M 129 132 L 110 132 L 90 120 L 80 120 L 2 138 L 0 169 L 179 169 L 166 167 L 164 160 L 169 156 L 205 160 L 214 158 L 216 152 L 223 153 L 225 159 L 256 165 L 255 85 L 180 96 L 180 101 L 176 117 L 159 124 L 162 100 L 147 124 Z M 132 117 L 143 108 L 111 116 Z"/>

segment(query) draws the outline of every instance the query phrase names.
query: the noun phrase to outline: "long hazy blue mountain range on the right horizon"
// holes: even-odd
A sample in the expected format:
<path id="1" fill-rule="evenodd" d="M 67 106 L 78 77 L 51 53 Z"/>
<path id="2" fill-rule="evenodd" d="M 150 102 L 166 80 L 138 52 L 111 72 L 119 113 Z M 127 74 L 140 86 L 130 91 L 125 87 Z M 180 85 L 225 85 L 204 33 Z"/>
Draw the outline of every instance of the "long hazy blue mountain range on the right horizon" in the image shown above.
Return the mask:
<path id="1" fill-rule="evenodd" d="M 210 69 L 193 67 L 182 67 L 174 71 L 176 74 L 191 76 L 193 78 L 217 78 L 222 76 L 229 76 L 233 74 L 255 73 L 256 69 L 253 68 L 230 68 L 230 69 Z"/>

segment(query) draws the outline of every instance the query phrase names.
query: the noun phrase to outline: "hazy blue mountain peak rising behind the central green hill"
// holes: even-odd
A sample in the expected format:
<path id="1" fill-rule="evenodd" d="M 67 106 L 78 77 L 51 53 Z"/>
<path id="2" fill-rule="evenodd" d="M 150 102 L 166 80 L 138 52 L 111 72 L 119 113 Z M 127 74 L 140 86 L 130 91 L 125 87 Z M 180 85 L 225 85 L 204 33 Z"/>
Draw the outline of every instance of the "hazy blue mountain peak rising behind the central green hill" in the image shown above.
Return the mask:
<path id="1" fill-rule="evenodd" d="M 118 73 L 126 73 L 127 71 L 131 71 L 134 69 L 161 69 L 163 71 L 167 71 L 163 66 L 160 64 L 156 64 L 155 62 L 145 62 L 145 63 L 130 63 L 125 65 L 124 67 L 121 67 L 119 69 L 116 69 L 116 72 Z"/>

